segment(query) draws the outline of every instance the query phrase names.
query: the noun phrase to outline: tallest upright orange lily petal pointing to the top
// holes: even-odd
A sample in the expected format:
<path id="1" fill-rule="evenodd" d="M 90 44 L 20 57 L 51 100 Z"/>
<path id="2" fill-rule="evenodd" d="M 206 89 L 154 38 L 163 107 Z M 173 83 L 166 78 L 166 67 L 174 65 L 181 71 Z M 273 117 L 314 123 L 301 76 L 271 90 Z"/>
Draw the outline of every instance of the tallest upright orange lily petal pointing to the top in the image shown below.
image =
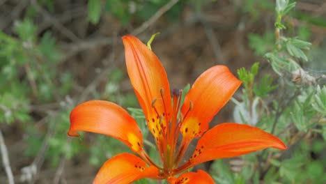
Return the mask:
<path id="1" fill-rule="evenodd" d="M 166 72 L 157 56 L 138 38 L 123 36 L 123 45 L 130 81 L 150 131 L 157 138 L 158 132 L 166 130 L 168 116 L 171 116 L 171 95 Z"/>

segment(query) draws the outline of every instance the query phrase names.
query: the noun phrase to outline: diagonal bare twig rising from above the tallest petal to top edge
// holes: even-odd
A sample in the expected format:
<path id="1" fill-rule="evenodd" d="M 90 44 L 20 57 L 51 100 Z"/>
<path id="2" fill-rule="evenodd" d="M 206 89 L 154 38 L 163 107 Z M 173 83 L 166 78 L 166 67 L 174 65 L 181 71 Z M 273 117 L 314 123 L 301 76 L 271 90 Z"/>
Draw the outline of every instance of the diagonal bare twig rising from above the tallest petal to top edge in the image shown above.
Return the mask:
<path id="1" fill-rule="evenodd" d="M 155 21 L 157 21 L 166 11 L 168 11 L 172 6 L 174 6 L 176 3 L 178 3 L 178 0 L 171 0 L 169 3 L 166 3 L 166 5 L 162 6 L 160 10 L 157 10 L 157 12 L 150 17 L 149 20 L 146 22 L 143 22 L 141 26 L 139 26 L 137 29 L 134 29 L 132 31 L 132 35 L 138 35 L 139 33 L 145 31 L 150 25 L 154 24 Z"/>

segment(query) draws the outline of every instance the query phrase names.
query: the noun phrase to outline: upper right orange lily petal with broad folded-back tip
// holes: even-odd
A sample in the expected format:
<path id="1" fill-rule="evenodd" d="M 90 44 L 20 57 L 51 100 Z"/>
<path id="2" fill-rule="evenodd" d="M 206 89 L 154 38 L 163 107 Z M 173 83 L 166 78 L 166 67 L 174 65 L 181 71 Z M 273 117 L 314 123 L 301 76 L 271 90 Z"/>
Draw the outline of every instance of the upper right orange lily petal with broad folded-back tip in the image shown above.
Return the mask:
<path id="1" fill-rule="evenodd" d="M 240 86 L 226 66 L 213 66 L 201 74 L 185 96 L 181 133 L 192 139 L 208 130 L 208 123 Z M 188 112 L 189 111 L 189 112 Z"/>

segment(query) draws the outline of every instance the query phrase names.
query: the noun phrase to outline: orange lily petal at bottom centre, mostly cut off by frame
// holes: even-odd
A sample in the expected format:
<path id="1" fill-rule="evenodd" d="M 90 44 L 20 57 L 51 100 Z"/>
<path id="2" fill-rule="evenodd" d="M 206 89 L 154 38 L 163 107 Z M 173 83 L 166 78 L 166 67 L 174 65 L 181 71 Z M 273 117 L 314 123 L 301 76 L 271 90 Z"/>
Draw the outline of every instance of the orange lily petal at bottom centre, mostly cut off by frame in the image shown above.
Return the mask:
<path id="1" fill-rule="evenodd" d="M 187 172 L 181 174 L 178 178 L 171 177 L 168 179 L 168 182 L 171 184 L 177 183 L 187 183 L 187 184 L 214 184 L 213 178 L 203 170 L 198 170 L 197 172 Z"/>

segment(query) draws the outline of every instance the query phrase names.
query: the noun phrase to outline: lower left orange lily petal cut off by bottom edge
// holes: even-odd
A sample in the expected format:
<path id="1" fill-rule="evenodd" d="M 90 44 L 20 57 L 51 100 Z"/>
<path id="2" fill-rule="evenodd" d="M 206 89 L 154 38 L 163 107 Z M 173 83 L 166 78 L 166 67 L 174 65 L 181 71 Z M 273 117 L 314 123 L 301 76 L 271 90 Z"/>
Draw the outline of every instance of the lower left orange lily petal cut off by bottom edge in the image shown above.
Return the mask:
<path id="1" fill-rule="evenodd" d="M 130 153 L 121 153 L 104 163 L 93 184 L 132 183 L 141 178 L 157 179 L 158 173 L 157 167 L 146 167 L 146 162 L 141 158 Z"/>

